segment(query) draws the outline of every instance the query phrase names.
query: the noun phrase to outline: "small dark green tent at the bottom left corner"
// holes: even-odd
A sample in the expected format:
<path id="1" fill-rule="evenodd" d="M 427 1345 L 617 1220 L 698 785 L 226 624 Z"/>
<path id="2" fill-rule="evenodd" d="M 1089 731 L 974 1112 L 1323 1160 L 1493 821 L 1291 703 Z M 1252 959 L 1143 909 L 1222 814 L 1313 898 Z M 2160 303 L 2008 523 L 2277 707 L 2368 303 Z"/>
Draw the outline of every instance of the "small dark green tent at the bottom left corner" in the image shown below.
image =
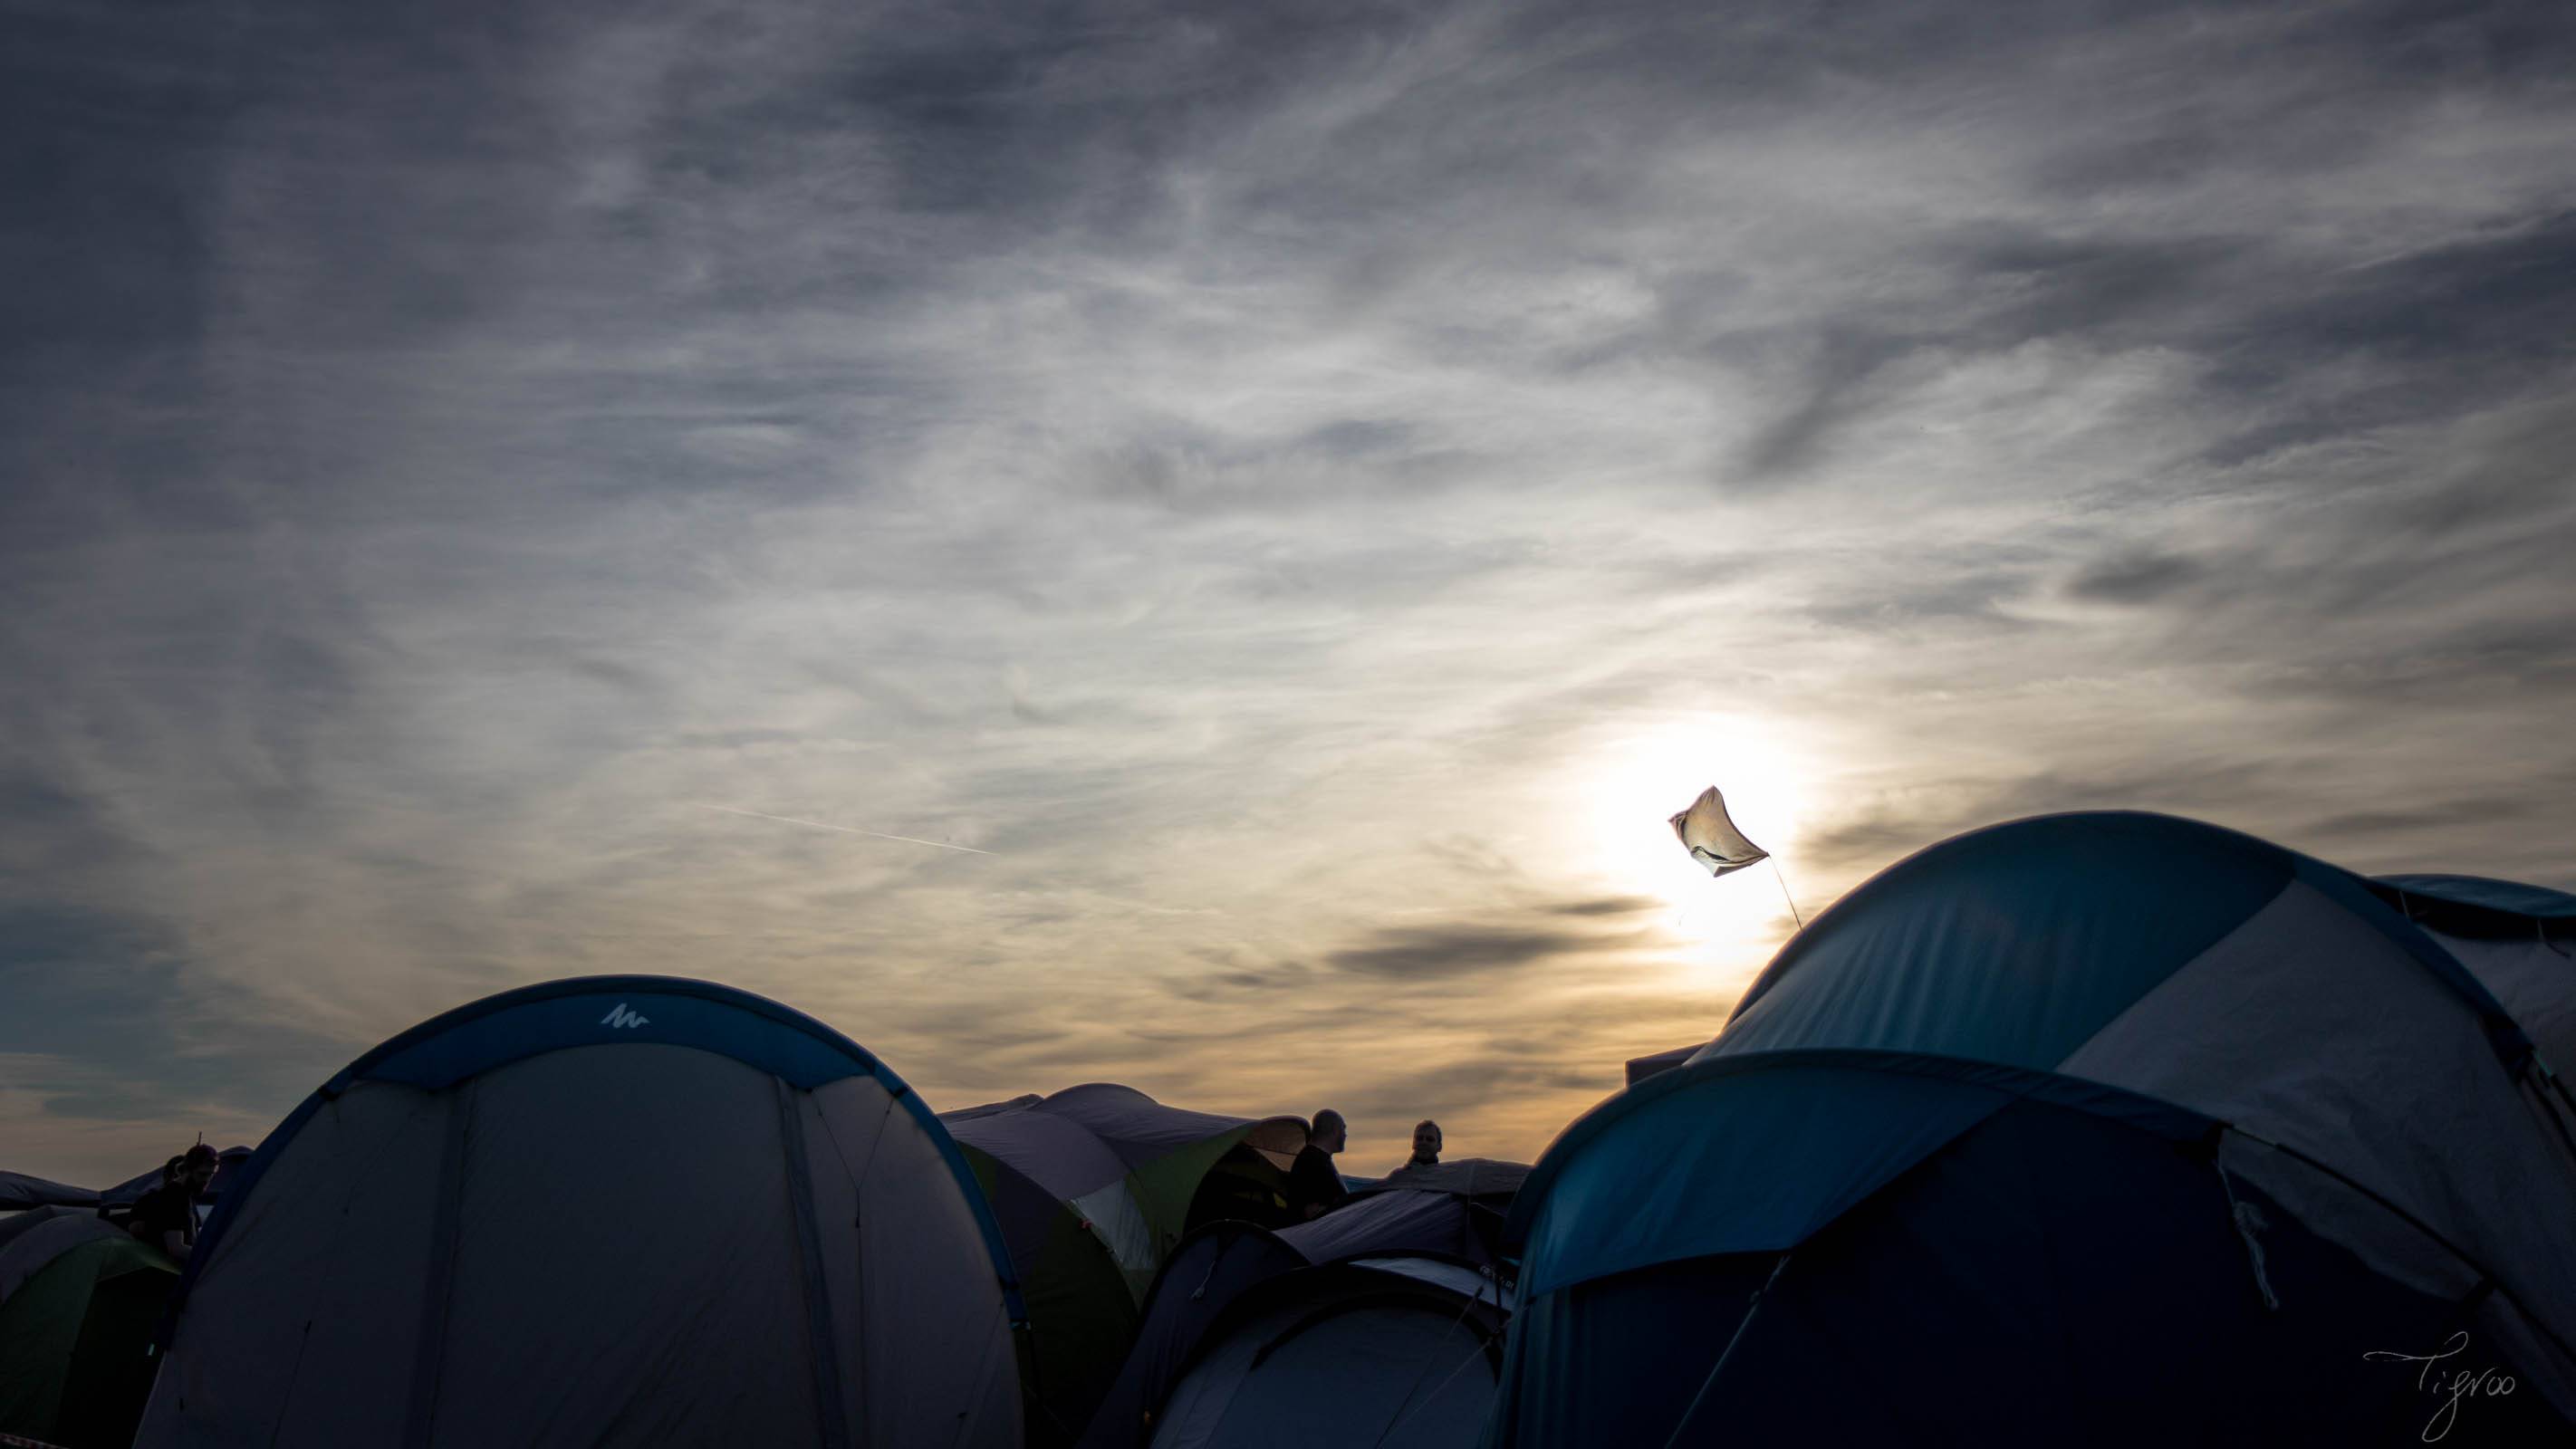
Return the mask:
<path id="1" fill-rule="evenodd" d="M 33 1271 L 0 1300 L 0 1434 L 64 1449 L 124 1449 L 134 1441 L 160 1364 L 152 1328 L 178 1266 L 129 1233 L 95 1217 L 90 1223 L 95 1233 L 67 1243 L 59 1230 L 41 1238 L 26 1233 L 13 1243 L 33 1251 L 62 1246 L 41 1266 L 21 1261 Z"/>

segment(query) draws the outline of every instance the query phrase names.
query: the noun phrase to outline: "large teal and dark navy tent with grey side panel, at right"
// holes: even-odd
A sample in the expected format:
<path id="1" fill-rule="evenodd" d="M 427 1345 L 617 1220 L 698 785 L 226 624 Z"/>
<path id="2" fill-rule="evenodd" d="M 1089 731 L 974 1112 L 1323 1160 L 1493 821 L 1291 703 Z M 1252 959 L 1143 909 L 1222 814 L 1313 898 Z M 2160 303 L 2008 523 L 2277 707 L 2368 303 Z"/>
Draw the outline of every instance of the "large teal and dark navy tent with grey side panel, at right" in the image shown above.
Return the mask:
<path id="1" fill-rule="evenodd" d="M 2496 999 L 2360 878 L 2138 813 L 1852 891 L 1515 1204 L 1489 1444 L 2566 1434 L 2576 1171 Z"/>

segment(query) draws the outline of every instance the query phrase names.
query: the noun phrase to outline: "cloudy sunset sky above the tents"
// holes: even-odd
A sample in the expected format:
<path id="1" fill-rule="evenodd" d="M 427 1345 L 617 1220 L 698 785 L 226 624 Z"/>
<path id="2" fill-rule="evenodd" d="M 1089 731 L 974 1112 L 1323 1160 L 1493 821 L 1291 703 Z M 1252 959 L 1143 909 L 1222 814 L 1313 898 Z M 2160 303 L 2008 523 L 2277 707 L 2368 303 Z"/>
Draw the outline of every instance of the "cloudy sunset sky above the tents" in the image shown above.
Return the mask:
<path id="1" fill-rule="evenodd" d="M 0 10 L 13 1171 L 585 973 L 1528 1161 L 1981 824 L 2576 885 L 2561 8 Z"/>

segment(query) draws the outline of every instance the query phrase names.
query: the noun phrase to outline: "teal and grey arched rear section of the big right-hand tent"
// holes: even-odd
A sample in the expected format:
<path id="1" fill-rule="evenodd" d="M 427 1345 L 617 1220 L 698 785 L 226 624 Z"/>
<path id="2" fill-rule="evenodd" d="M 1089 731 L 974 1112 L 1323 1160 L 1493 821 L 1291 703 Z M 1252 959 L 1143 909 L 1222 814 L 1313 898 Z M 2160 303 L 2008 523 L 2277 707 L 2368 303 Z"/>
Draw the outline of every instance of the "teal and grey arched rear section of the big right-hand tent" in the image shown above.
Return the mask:
<path id="1" fill-rule="evenodd" d="M 2576 1179 L 2566 1125 L 2519 1102 L 2530 1037 L 2349 872 L 2166 816 L 2043 816 L 1886 870 L 1754 991 L 1700 1060 L 1901 1042 L 2174 1102 L 2321 1156 L 2576 1343 L 2553 1228 Z M 2347 1238 L 2380 1223 L 2354 1215 Z"/>

